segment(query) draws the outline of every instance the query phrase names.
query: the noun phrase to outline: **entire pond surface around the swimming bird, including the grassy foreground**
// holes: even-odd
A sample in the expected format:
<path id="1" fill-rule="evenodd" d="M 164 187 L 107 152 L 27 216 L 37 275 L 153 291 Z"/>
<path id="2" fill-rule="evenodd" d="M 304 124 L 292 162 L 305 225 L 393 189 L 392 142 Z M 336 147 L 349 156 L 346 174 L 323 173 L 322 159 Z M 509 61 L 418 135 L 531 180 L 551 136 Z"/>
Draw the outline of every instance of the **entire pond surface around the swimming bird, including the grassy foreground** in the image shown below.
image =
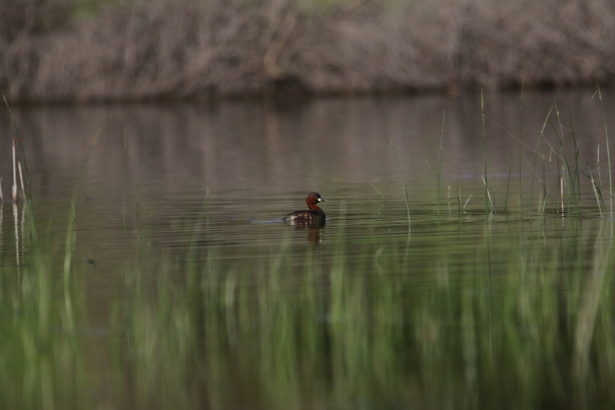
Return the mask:
<path id="1" fill-rule="evenodd" d="M 3 401 L 611 408 L 611 100 L 4 109 Z"/>

